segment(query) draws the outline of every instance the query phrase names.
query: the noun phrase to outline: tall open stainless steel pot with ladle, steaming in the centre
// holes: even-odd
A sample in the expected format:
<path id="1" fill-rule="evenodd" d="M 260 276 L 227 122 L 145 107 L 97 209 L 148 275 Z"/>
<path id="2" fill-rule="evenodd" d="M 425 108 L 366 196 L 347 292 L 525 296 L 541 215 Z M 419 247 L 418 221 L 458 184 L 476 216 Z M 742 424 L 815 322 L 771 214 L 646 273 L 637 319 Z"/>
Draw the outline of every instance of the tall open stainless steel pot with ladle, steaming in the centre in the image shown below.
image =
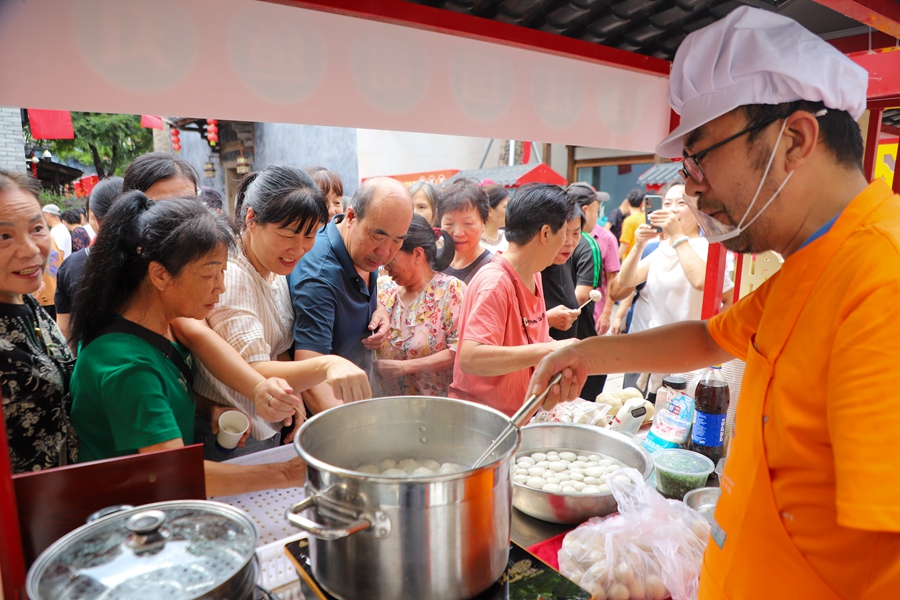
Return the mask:
<path id="1" fill-rule="evenodd" d="M 303 424 L 294 447 L 309 465 L 308 497 L 287 517 L 311 534 L 319 584 L 367 600 L 456 600 L 490 587 L 509 554 L 518 431 L 478 469 L 405 479 L 354 469 L 386 458 L 465 467 L 509 422 L 470 402 L 402 396 L 345 404 Z"/>

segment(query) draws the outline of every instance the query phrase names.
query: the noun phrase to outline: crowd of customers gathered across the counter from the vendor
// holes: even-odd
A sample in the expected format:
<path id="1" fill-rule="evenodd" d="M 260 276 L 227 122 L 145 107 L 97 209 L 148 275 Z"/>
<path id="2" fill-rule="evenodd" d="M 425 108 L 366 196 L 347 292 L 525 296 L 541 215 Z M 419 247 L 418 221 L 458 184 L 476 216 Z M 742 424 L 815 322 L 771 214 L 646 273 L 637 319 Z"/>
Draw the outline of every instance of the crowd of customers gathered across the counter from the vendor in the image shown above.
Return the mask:
<path id="1" fill-rule="evenodd" d="M 39 192 L 0 173 L 15 472 L 202 443 L 211 494 L 290 485 L 303 476 L 295 461 L 222 461 L 373 396 L 512 414 L 535 365 L 606 333 L 631 292 L 598 225 L 609 196 L 584 183 L 511 195 L 490 181 L 407 189 L 376 177 L 346 198 L 327 168 L 272 165 L 241 181 L 231 221 L 190 164 L 153 152 L 100 181 L 83 213 L 42 207 Z M 677 238 L 685 219 L 664 212 Z M 696 222 L 682 227 L 696 236 Z M 234 450 L 216 442 L 227 410 L 250 421 Z"/>

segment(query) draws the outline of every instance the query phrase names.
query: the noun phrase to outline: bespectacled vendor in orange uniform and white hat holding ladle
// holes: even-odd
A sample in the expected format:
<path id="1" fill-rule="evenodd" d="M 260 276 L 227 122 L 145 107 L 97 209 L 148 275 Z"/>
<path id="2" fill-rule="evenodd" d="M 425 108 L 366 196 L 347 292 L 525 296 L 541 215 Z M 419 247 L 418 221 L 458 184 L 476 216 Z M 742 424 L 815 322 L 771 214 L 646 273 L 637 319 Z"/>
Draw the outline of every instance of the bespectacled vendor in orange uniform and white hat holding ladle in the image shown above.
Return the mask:
<path id="1" fill-rule="evenodd" d="M 684 159 L 710 241 L 781 270 L 708 322 L 599 337 L 538 367 L 680 372 L 747 362 L 701 600 L 900 594 L 900 196 L 868 183 L 865 70 L 794 21 L 740 7 L 689 35 L 658 147 Z"/>

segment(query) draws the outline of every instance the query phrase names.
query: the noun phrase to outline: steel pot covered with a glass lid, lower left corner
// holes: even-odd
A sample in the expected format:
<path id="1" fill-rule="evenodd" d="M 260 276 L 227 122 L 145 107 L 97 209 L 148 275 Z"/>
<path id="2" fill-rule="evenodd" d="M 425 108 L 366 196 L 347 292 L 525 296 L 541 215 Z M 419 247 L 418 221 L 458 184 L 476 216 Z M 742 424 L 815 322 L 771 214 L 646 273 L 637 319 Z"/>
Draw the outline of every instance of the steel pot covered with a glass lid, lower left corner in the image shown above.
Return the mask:
<path id="1" fill-rule="evenodd" d="M 68 533 L 28 571 L 32 600 L 252 598 L 256 527 L 219 502 L 157 502 Z"/>

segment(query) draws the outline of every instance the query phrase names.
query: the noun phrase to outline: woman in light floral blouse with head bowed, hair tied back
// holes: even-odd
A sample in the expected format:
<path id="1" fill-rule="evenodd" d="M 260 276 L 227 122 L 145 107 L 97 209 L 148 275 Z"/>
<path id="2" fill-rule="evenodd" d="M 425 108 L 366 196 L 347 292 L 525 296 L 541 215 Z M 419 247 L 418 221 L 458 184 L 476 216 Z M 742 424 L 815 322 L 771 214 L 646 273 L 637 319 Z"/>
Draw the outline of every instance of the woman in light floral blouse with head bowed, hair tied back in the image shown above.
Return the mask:
<path id="1" fill-rule="evenodd" d="M 379 279 L 378 300 L 390 314 L 390 333 L 375 362 L 382 395 L 447 396 L 466 289 L 440 272 L 454 253 L 450 234 L 416 214 L 400 251 L 385 265 L 390 277 Z"/>

